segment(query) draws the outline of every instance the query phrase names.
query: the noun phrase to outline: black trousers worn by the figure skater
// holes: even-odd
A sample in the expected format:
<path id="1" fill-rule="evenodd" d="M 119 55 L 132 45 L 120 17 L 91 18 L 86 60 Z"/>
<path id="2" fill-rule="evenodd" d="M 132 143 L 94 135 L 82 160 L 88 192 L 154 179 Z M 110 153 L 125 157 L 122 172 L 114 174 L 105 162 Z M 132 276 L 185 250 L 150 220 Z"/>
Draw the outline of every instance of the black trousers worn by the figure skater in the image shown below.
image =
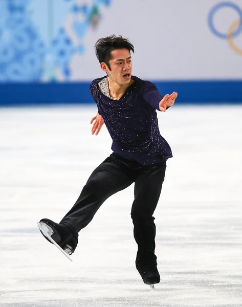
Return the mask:
<path id="1" fill-rule="evenodd" d="M 143 166 L 112 153 L 93 171 L 76 203 L 60 223 L 69 224 L 78 233 L 92 221 L 109 196 L 135 183 L 131 218 L 138 245 L 136 267 L 157 264 L 156 225 L 152 215 L 160 197 L 165 169 L 166 162 Z"/>

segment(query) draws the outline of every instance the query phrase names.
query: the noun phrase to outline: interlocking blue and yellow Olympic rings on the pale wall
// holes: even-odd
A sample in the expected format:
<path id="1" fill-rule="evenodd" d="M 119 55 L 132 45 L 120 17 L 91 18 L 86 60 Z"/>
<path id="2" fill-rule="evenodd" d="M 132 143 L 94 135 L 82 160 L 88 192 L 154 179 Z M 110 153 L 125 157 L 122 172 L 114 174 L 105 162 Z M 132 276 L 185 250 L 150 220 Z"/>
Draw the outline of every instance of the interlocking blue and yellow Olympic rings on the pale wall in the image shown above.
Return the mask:
<path id="1" fill-rule="evenodd" d="M 230 25 L 227 33 L 221 33 L 215 29 L 213 24 L 213 18 L 215 13 L 219 9 L 225 7 L 234 9 L 238 13 L 239 19 L 234 21 L 234 23 Z M 222 2 L 216 4 L 208 14 L 208 26 L 214 35 L 221 39 L 227 39 L 229 46 L 232 48 L 232 50 L 237 54 L 242 55 L 242 49 L 239 49 L 237 46 L 235 46 L 235 43 L 233 41 L 236 36 L 242 33 L 242 9 L 239 6 L 231 2 Z"/>

